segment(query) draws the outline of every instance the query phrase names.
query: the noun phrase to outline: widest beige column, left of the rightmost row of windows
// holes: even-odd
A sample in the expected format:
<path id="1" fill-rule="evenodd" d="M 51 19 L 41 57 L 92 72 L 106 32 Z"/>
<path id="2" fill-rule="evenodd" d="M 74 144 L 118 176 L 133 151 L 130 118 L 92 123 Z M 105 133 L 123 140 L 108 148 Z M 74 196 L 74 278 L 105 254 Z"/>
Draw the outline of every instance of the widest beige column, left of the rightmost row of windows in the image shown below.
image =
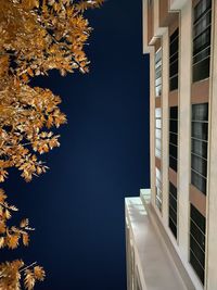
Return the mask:
<path id="1" fill-rule="evenodd" d="M 190 184 L 190 124 L 191 124 L 191 56 L 192 1 L 181 10 L 180 21 L 180 89 L 179 89 L 179 161 L 178 161 L 178 243 L 182 257 L 188 261 L 189 184 Z"/>

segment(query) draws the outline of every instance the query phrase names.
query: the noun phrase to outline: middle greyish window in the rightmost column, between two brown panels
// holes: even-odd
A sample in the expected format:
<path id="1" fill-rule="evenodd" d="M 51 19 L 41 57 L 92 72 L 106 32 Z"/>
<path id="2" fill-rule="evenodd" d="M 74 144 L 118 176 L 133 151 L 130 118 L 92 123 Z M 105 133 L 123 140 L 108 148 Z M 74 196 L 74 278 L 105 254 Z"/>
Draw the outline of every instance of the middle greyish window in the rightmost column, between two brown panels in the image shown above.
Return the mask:
<path id="1" fill-rule="evenodd" d="M 206 194 L 208 103 L 192 104 L 191 184 Z"/>

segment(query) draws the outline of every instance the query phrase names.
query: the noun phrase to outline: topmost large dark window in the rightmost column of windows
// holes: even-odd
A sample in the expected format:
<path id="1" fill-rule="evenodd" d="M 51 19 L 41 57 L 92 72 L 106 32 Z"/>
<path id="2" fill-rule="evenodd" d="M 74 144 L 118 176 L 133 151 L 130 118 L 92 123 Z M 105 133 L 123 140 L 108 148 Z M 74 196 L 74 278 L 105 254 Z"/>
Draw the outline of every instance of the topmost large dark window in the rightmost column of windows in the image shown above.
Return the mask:
<path id="1" fill-rule="evenodd" d="M 193 81 L 197 81 L 209 76 L 212 0 L 201 0 L 193 14 Z"/>

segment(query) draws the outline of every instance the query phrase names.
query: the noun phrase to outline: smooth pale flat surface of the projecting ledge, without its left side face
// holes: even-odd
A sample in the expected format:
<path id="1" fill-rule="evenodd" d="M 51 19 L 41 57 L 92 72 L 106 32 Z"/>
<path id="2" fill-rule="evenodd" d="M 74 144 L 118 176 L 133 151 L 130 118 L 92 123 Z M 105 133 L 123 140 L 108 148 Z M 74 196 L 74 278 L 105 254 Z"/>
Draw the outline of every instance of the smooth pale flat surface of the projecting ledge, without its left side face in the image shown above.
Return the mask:
<path id="1" fill-rule="evenodd" d="M 127 198 L 125 206 L 142 290 L 193 290 L 169 255 L 142 200 Z"/>

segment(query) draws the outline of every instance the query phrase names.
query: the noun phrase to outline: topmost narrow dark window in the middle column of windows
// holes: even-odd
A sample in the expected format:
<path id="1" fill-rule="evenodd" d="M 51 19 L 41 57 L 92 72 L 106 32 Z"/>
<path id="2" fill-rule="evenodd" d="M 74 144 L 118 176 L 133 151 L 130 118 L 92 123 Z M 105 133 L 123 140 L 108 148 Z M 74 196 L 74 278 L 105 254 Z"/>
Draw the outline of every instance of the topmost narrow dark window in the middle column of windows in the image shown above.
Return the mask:
<path id="1" fill-rule="evenodd" d="M 178 89 L 179 71 L 179 29 L 169 38 L 169 90 Z"/>

